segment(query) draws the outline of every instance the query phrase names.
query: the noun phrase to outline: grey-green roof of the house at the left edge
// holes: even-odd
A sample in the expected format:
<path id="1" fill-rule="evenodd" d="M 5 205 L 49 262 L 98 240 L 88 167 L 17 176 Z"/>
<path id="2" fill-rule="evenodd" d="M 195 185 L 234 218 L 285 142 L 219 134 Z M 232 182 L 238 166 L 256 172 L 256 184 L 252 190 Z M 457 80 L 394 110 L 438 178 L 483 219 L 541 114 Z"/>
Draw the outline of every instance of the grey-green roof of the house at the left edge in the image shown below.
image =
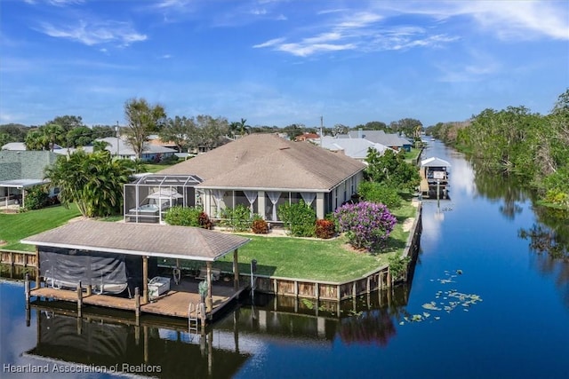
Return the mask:
<path id="1" fill-rule="evenodd" d="M 50 151 L 0 151 L 0 181 L 44 178 L 58 155 Z"/>

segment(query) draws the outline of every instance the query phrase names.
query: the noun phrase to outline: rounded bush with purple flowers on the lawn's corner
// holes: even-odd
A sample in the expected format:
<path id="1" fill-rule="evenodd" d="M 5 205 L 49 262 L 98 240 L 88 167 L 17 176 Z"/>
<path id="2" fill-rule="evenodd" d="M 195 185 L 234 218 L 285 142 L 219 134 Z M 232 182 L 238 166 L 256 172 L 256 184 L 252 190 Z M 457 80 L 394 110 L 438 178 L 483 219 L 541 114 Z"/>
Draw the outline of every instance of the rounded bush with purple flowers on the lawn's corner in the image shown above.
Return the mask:
<path id="1" fill-rule="evenodd" d="M 389 233 L 397 224 L 397 218 L 381 203 L 368 201 L 344 204 L 334 216 L 340 232 L 345 232 L 349 243 L 356 249 L 373 251 L 385 245 Z"/>

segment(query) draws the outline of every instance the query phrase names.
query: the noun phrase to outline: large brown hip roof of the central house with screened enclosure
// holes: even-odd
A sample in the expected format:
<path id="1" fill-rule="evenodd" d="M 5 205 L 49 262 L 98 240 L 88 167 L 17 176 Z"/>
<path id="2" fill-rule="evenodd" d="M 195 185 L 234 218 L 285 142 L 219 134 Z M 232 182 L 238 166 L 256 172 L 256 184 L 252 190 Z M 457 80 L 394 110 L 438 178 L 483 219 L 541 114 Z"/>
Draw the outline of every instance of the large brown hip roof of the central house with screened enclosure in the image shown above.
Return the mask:
<path id="1" fill-rule="evenodd" d="M 203 188 L 329 191 L 365 164 L 275 134 L 251 134 L 180 162 L 160 174 L 195 174 Z"/>

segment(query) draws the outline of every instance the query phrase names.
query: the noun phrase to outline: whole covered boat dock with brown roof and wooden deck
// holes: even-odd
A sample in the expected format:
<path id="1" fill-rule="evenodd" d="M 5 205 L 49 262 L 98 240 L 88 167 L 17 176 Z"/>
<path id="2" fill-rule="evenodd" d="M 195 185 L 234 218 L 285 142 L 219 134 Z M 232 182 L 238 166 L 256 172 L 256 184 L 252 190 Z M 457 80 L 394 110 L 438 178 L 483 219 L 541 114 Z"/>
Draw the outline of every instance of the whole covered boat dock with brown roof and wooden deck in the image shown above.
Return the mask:
<path id="1" fill-rule="evenodd" d="M 205 311 L 212 314 L 212 262 L 233 252 L 234 291 L 240 289 L 238 270 L 238 249 L 251 241 L 248 238 L 219 233 L 189 226 L 148 225 L 133 223 L 111 223 L 103 221 L 84 220 L 69 223 L 50 231 L 30 236 L 22 243 L 36 246 L 36 288 L 29 291 L 29 296 L 52 297 L 60 300 L 83 301 L 83 291 L 86 289 L 85 304 L 108 306 L 110 308 L 134 310 L 138 313 L 148 310 L 163 315 L 180 316 L 180 312 L 168 311 L 161 308 L 157 299 L 149 304 L 148 262 L 153 258 L 173 258 L 177 260 L 192 260 L 204 262 L 206 265 L 205 280 L 207 293 L 205 296 Z M 53 260 L 64 265 L 53 264 Z M 132 299 L 117 296 L 105 296 L 102 288 L 105 284 L 117 285 L 121 280 L 128 281 L 132 261 L 139 262 L 141 267 L 142 294 L 140 304 Z M 63 276 L 60 276 L 63 274 Z M 52 282 L 74 283 L 76 296 L 59 288 L 41 288 L 41 277 L 53 278 Z M 127 284 L 124 282 L 124 284 Z M 101 293 L 93 294 L 93 288 L 100 285 Z M 138 288 L 137 288 L 138 289 Z M 59 291 L 59 292 L 58 292 Z M 67 293 L 67 294 L 66 294 Z M 73 292 L 71 292 L 73 294 Z M 100 297 L 96 297 L 100 296 Z M 173 294 L 176 303 L 185 301 L 180 293 Z M 138 299 L 138 297 L 136 297 Z M 118 300 L 115 300 L 118 299 Z M 165 304 L 166 302 L 164 302 Z M 148 304 L 148 306 L 145 306 Z M 172 304 L 170 304 L 172 305 Z M 182 304 L 188 310 L 189 304 Z M 182 312 L 184 317 L 188 314 Z"/>

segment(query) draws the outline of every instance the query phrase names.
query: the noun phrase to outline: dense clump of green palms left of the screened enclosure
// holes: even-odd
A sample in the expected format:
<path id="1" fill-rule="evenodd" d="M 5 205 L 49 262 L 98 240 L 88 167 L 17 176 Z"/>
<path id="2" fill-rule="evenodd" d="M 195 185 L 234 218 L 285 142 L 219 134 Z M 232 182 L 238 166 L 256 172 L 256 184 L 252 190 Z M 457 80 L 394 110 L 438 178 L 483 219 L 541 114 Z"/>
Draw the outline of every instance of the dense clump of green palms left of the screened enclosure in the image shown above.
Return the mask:
<path id="1" fill-rule="evenodd" d="M 60 189 L 61 203 L 75 202 L 84 217 L 102 217 L 120 213 L 123 185 L 134 173 L 134 162 L 113 159 L 108 151 L 86 154 L 78 150 L 60 156 L 45 170 L 50 186 Z"/>

